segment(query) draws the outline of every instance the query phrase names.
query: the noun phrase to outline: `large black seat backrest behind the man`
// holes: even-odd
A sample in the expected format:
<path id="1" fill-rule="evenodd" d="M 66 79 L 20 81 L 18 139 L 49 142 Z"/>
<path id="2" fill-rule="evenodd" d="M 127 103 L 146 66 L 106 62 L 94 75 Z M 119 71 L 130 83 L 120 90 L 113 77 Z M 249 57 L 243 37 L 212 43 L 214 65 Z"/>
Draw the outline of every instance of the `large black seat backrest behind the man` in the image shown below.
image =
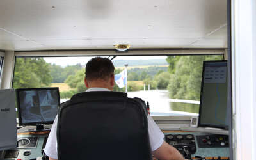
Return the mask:
<path id="1" fill-rule="evenodd" d="M 58 113 L 58 159 L 152 159 L 145 108 L 122 92 L 74 95 Z"/>

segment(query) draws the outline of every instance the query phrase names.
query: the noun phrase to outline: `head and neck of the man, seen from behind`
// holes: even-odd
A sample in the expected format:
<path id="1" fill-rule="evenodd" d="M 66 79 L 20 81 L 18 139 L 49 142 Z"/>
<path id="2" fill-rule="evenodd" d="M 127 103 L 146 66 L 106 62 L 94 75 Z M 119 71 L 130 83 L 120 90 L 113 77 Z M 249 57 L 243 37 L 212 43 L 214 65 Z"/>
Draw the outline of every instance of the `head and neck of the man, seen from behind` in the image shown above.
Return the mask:
<path id="1" fill-rule="evenodd" d="M 113 89 L 115 67 L 108 58 L 92 58 L 86 64 L 84 82 L 87 88 L 103 87 Z"/>

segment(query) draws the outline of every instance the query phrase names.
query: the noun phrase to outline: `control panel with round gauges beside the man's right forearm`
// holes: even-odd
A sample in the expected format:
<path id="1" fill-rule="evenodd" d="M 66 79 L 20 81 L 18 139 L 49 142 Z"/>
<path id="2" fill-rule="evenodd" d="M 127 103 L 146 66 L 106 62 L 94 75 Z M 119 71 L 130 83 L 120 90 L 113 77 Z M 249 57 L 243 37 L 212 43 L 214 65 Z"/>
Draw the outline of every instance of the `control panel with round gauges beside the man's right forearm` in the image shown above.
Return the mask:
<path id="1" fill-rule="evenodd" d="M 225 135 L 166 131 L 165 141 L 186 159 L 229 160 L 228 136 Z"/>

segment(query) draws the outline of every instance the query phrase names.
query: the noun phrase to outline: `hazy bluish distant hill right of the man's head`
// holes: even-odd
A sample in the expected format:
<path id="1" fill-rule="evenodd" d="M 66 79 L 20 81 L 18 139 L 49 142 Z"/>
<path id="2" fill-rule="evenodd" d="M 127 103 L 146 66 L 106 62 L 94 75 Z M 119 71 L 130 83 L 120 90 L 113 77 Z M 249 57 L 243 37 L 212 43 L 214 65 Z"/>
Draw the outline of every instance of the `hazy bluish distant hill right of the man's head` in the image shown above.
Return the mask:
<path id="1" fill-rule="evenodd" d="M 125 64 L 128 66 L 142 66 L 142 65 L 168 65 L 165 59 L 156 60 L 113 60 L 115 67 L 123 67 Z"/>

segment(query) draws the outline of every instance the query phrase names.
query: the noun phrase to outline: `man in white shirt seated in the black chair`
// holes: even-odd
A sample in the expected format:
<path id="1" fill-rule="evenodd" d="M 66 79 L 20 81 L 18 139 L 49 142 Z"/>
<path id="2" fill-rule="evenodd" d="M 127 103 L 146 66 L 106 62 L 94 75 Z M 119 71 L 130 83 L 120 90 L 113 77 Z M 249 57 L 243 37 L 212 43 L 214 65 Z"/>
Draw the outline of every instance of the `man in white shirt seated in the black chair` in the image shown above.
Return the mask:
<path id="1" fill-rule="evenodd" d="M 88 90 L 91 91 L 109 91 L 113 90 L 115 85 L 114 76 L 115 67 L 108 58 L 93 58 L 86 64 L 86 77 L 84 83 Z M 57 142 L 56 142 L 56 125 L 57 117 L 52 125 L 46 146 L 45 154 L 49 156 L 50 160 L 58 159 Z M 157 159 L 175 159 L 184 160 L 182 155 L 174 147 L 168 145 L 163 141 L 164 134 L 157 127 L 154 120 L 148 116 L 148 134 L 150 139 L 150 146 L 152 154 Z"/>

